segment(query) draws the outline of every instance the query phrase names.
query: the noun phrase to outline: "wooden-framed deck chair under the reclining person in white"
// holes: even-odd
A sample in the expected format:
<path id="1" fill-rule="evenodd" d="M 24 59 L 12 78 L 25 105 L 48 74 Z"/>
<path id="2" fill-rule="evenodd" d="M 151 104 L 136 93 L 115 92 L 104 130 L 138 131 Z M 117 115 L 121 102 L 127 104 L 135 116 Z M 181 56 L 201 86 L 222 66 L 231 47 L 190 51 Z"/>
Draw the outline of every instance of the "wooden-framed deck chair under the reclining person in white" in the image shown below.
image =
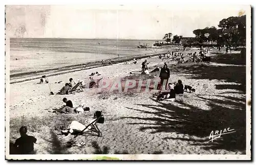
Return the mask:
<path id="1" fill-rule="evenodd" d="M 88 126 L 86 126 L 86 128 L 84 128 L 82 131 L 76 130 L 78 133 L 74 136 L 74 138 L 76 138 L 78 135 L 87 135 L 87 134 L 102 137 L 102 133 L 97 126 L 97 123 L 101 123 L 101 124 L 104 123 L 104 121 L 103 122 L 100 121 L 102 117 L 103 116 L 101 115 L 100 117 L 95 119 L 93 122 L 88 124 Z"/>

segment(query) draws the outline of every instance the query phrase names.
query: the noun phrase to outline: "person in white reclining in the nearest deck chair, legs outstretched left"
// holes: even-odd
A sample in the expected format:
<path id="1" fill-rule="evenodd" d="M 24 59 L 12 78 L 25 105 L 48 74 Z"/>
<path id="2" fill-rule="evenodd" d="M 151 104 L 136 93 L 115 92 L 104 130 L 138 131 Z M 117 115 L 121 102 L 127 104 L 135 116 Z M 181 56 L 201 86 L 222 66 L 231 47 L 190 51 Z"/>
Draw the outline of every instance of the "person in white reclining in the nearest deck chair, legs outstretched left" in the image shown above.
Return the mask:
<path id="1" fill-rule="evenodd" d="M 91 120 L 87 120 L 84 125 L 82 123 L 79 123 L 78 121 L 72 121 L 71 124 L 68 126 L 67 129 L 61 130 L 61 134 L 64 134 L 66 136 L 72 134 L 72 133 L 77 133 L 82 131 L 84 128 L 87 127 L 88 124 L 92 123 L 95 119 L 99 118 L 101 116 L 101 112 L 100 111 L 96 111 L 93 119 Z M 86 130 L 84 130 L 84 132 L 88 131 L 89 129 L 91 129 L 91 127 L 89 126 Z"/>

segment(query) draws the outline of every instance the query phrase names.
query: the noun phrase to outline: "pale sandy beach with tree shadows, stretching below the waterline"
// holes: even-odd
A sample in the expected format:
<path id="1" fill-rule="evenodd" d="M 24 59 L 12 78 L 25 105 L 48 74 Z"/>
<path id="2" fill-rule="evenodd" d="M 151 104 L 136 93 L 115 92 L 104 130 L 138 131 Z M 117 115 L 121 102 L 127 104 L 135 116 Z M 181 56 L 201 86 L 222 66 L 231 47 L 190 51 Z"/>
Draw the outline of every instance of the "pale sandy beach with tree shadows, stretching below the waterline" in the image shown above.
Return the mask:
<path id="1" fill-rule="evenodd" d="M 187 52 L 191 50 L 184 54 Z M 130 72 L 140 72 L 144 59 L 138 64 L 118 63 L 50 76 L 49 85 L 36 84 L 39 79 L 10 84 L 10 142 L 19 137 L 19 127 L 27 125 L 28 134 L 37 139 L 36 154 L 245 154 L 245 64 L 239 61 L 238 51 L 224 54 L 213 50 L 207 56 L 211 56 L 209 64 L 177 64 L 158 57 L 147 58 L 149 70 L 166 62 L 169 82 L 181 79 L 184 85 L 196 89 L 195 93 L 176 95 L 175 102 L 157 101 L 152 93 L 90 89 L 75 95 L 50 95 L 50 91 L 56 94 L 64 86 L 55 82 L 68 82 L 72 77 L 88 83 L 89 75 L 96 71 L 112 80 L 131 76 Z M 49 113 L 49 109 L 63 105 L 63 97 L 72 100 L 74 106 L 86 104 L 90 112 Z M 61 126 L 67 127 L 73 120 L 83 123 L 95 111 L 102 111 L 105 118 L 103 124 L 98 124 L 102 137 L 87 135 L 74 139 L 73 135 L 60 134 Z M 225 128 L 236 132 L 208 142 L 212 130 Z M 68 148 L 67 143 L 74 140 L 86 144 Z"/>

